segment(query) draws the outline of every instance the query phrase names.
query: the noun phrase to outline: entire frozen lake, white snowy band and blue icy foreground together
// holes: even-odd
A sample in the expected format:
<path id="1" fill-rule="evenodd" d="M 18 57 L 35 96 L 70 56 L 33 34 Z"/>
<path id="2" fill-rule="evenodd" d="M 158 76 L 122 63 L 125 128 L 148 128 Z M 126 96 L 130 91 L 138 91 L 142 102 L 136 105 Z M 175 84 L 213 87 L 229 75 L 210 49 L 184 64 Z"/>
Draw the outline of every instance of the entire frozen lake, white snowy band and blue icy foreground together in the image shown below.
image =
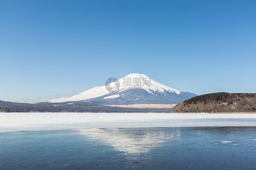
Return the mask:
<path id="1" fill-rule="evenodd" d="M 255 169 L 256 114 L 0 113 L 0 169 Z"/>

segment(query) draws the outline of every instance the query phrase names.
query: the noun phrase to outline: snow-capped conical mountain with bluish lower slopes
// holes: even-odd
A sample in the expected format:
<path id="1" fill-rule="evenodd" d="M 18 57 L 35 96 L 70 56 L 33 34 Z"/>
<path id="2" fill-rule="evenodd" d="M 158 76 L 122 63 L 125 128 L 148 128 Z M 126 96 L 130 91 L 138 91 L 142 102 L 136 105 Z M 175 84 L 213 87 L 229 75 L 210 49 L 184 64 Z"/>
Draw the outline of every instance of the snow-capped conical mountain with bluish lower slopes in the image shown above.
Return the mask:
<path id="1" fill-rule="evenodd" d="M 133 73 L 119 80 L 109 78 L 105 86 L 47 102 L 85 101 L 108 105 L 179 104 L 195 96 L 197 95 L 194 93 L 182 92 L 156 82 L 144 74 Z"/>

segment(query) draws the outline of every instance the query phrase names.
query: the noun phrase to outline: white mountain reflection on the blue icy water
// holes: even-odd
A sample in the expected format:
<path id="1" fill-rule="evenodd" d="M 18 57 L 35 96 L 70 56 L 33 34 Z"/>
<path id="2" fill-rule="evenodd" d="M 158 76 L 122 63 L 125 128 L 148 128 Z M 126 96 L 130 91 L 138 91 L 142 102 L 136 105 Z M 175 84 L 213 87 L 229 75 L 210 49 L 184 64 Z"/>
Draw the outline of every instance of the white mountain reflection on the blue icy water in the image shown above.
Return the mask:
<path id="1" fill-rule="evenodd" d="M 113 146 L 116 150 L 129 155 L 145 155 L 159 143 L 168 142 L 175 136 L 180 136 L 179 128 L 166 133 L 157 128 L 110 128 L 110 129 L 78 129 L 78 134 L 85 135 L 91 140 Z"/>

